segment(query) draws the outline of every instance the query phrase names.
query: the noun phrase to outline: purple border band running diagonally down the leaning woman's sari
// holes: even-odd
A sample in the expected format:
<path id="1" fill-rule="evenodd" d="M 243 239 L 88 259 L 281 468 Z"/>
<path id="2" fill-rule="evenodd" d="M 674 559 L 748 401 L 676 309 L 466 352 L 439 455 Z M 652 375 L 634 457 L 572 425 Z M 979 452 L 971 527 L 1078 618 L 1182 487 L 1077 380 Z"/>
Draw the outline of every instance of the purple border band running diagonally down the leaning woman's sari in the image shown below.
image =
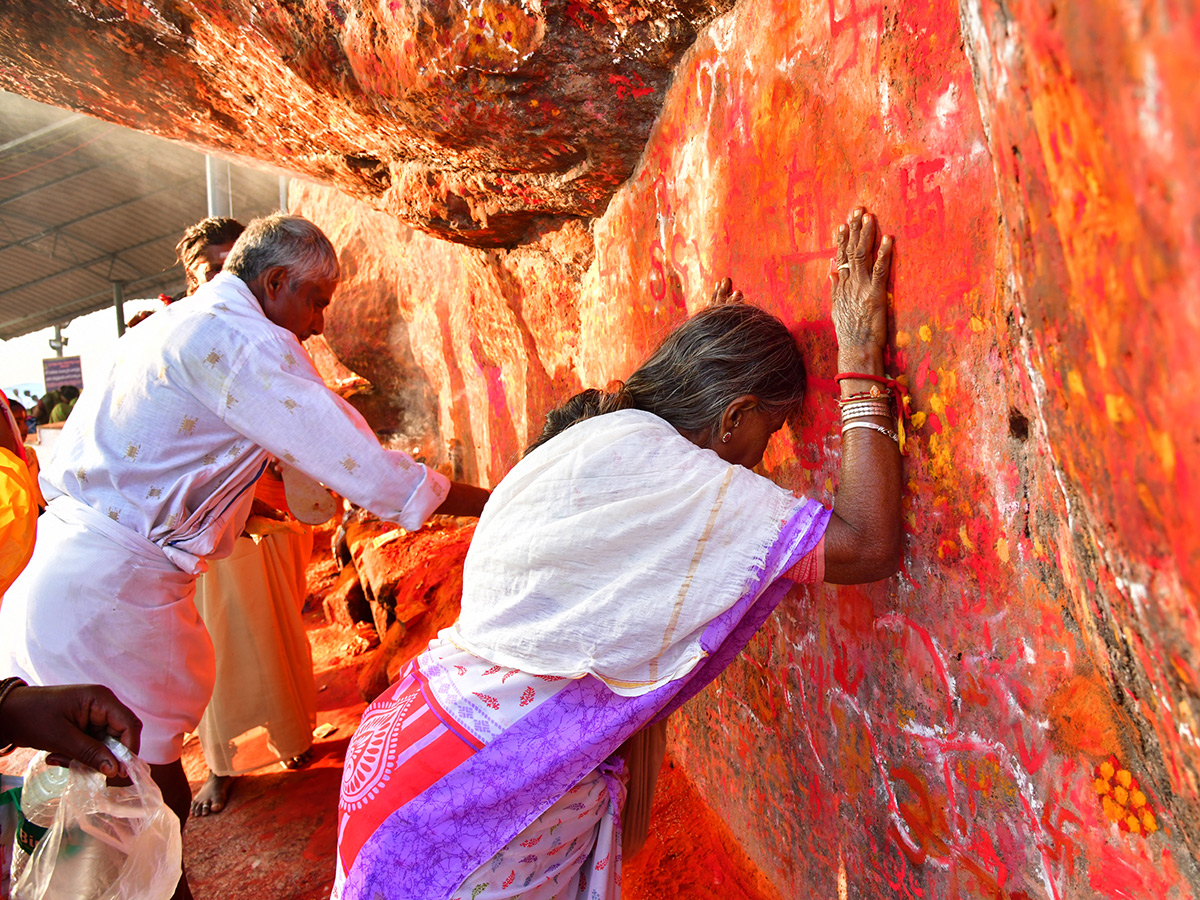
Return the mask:
<path id="1" fill-rule="evenodd" d="M 600 766 L 631 734 L 678 709 L 728 666 L 782 600 L 779 580 L 820 542 L 829 510 L 802 503 L 746 594 L 706 628 L 709 656 L 636 697 L 577 679 L 394 811 L 359 852 L 343 900 L 445 900 L 499 847 Z"/>

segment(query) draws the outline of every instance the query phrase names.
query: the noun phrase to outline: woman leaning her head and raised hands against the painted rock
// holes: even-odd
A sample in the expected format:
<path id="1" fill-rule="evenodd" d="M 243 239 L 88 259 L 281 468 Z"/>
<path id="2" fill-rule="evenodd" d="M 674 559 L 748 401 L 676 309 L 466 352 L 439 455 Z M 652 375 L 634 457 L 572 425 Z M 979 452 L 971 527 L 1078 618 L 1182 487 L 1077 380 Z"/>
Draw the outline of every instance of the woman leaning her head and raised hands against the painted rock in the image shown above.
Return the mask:
<path id="1" fill-rule="evenodd" d="M 752 472 L 800 407 L 804 366 L 787 328 L 727 280 L 714 299 L 733 302 L 685 322 L 618 390 L 550 416 L 480 518 L 458 620 L 350 742 L 335 899 L 618 896 L 666 716 L 793 583 L 895 572 L 892 240 L 876 253 L 875 239 L 862 209 L 836 234 L 833 510 Z"/>

